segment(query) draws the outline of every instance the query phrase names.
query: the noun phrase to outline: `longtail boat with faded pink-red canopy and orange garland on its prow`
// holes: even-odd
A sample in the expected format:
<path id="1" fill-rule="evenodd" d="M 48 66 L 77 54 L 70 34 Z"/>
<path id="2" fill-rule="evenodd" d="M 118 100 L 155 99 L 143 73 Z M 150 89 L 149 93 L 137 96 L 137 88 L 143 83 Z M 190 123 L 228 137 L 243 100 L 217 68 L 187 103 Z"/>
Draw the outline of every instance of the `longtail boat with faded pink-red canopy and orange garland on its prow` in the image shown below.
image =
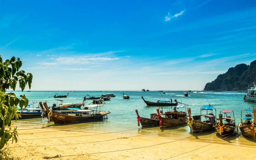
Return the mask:
<path id="1" fill-rule="evenodd" d="M 222 117 L 223 114 L 221 113 L 224 113 L 224 118 Z M 227 116 L 227 113 L 233 113 L 233 118 Z M 223 123 L 223 120 L 225 120 L 226 122 Z M 235 129 L 237 128 L 237 125 L 235 124 L 234 111 L 232 111 L 232 109 L 222 109 L 222 111 L 219 114 L 219 122 L 217 122 L 216 125 L 213 126 L 213 128 L 221 136 L 233 134 Z"/>

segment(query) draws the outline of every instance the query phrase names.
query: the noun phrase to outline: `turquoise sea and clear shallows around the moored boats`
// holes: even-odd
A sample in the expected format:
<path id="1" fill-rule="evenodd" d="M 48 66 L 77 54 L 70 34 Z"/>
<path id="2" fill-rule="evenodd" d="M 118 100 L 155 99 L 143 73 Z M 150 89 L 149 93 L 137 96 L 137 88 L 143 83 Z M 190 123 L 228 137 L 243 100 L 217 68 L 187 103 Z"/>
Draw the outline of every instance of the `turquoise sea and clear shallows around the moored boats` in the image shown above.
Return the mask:
<path id="1" fill-rule="evenodd" d="M 218 114 L 222 109 L 232 109 L 234 111 L 236 124 L 240 123 L 241 110 L 244 108 L 256 108 L 256 103 L 245 102 L 243 101 L 243 96 L 245 93 L 238 92 L 211 92 L 211 91 L 199 91 L 199 93 L 189 92 L 189 96 L 183 96 L 184 92 L 187 91 L 165 91 L 166 94 L 158 91 L 32 91 L 32 92 L 21 92 L 15 91 L 16 96 L 20 94 L 25 94 L 29 99 L 29 103 L 35 102 L 34 106 L 37 107 L 40 101 L 48 102 L 48 106 L 52 106 L 53 103 L 57 101 L 54 96 L 55 93 L 59 95 L 66 95 L 69 93 L 67 98 L 58 98 L 64 100 L 63 103 L 71 102 L 73 104 L 82 102 L 86 94 L 91 96 L 100 96 L 101 94 L 106 93 L 115 93 L 116 97 L 112 97 L 110 101 L 105 101 L 105 105 L 101 107 L 101 110 L 110 111 L 108 114 L 107 120 L 94 121 L 89 123 L 78 123 L 78 124 L 66 124 L 66 125 L 54 125 L 51 121 L 50 123 L 47 120 L 42 120 L 42 118 L 32 118 L 32 119 L 20 119 L 17 122 L 13 122 L 14 125 L 31 125 L 31 127 L 45 127 L 50 126 L 56 129 L 78 129 L 82 128 L 84 131 L 90 132 L 115 132 L 113 134 L 124 134 L 124 135 L 134 135 L 141 134 L 144 136 L 161 136 L 167 138 L 184 138 L 189 137 L 190 129 L 188 125 L 180 125 L 175 127 L 141 127 L 137 123 L 137 115 L 135 109 L 138 110 L 138 113 L 141 117 L 149 118 L 151 113 L 156 113 L 156 108 L 154 106 L 147 106 L 142 96 L 145 100 L 156 102 L 157 100 L 169 100 L 169 98 L 177 99 L 178 102 L 187 104 L 191 108 L 191 114 L 197 115 L 200 112 L 200 108 L 204 105 L 214 105 L 216 108 L 216 114 Z M 123 93 L 130 94 L 130 99 L 123 99 Z M 50 97 L 50 98 L 49 98 Z M 91 103 L 93 100 L 88 100 L 87 104 Z M 58 102 L 59 104 L 59 102 Z M 161 109 L 161 108 L 160 108 Z M 172 109 L 172 107 L 163 107 L 163 112 Z M 185 111 L 185 109 L 180 110 Z M 215 115 L 215 111 L 213 112 Z M 206 112 L 202 111 L 202 114 Z M 242 113 L 242 116 L 245 117 L 246 112 Z M 33 126 L 35 125 L 35 126 Z M 128 131 L 129 130 L 129 131 Z M 31 132 L 28 131 L 28 132 Z M 194 133 L 189 140 L 198 140 L 198 141 L 217 141 L 220 140 L 221 136 L 217 135 L 214 130 L 205 131 L 202 133 Z M 256 146 L 253 139 L 247 138 L 240 134 L 234 134 L 225 138 L 224 141 L 234 144 L 245 144 Z"/>

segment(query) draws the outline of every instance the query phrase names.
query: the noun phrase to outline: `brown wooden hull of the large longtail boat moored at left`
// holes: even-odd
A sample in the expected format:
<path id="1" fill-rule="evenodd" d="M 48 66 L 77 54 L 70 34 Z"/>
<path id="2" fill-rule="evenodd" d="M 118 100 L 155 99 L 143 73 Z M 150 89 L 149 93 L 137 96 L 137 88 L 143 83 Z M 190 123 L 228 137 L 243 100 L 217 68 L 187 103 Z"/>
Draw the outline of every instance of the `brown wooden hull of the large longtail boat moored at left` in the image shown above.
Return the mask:
<path id="1" fill-rule="evenodd" d="M 108 112 L 107 114 L 109 114 Z M 93 115 L 90 117 L 82 117 L 82 116 L 69 116 L 61 113 L 52 113 L 52 120 L 54 124 L 65 124 L 65 123 L 81 123 L 81 122 L 90 122 L 95 120 L 104 119 L 106 114 L 101 115 Z"/>

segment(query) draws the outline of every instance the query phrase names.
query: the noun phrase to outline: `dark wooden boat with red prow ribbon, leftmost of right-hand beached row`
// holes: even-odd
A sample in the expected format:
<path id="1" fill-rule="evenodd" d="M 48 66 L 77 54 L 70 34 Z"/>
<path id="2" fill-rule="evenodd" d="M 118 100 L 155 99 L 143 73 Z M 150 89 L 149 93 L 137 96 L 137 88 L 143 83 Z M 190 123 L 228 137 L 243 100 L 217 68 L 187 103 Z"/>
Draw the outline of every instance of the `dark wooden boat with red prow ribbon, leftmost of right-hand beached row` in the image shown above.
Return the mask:
<path id="1" fill-rule="evenodd" d="M 143 118 L 139 116 L 137 109 L 135 110 L 135 112 L 137 114 L 138 126 L 139 126 L 139 123 L 141 124 L 142 127 L 159 125 L 157 113 L 150 114 L 150 118 Z"/>

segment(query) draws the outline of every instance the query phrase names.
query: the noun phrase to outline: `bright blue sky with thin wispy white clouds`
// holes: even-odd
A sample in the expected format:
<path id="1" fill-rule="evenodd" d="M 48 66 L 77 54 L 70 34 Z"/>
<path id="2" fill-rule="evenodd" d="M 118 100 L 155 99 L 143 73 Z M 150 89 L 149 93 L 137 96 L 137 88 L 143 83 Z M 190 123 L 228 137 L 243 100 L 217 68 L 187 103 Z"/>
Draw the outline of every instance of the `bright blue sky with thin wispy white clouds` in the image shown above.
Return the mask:
<path id="1" fill-rule="evenodd" d="M 255 40 L 253 0 L 0 1 L 0 55 L 31 90 L 203 90 Z"/>

